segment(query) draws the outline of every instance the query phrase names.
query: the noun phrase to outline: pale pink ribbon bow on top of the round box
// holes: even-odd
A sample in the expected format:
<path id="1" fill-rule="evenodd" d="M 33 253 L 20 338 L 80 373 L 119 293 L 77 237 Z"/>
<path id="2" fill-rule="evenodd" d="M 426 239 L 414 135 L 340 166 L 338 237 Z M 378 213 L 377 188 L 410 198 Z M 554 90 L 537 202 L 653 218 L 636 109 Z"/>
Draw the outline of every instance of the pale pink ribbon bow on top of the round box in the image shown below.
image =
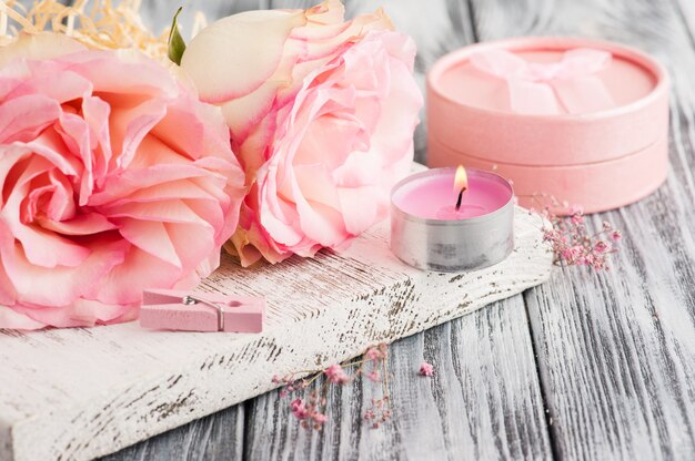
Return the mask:
<path id="1" fill-rule="evenodd" d="M 606 51 L 578 48 L 566 51 L 560 62 L 542 64 L 508 51 L 487 50 L 472 55 L 471 63 L 506 80 L 512 111 L 553 115 L 615 107 L 611 93 L 595 75 L 608 65 L 611 58 Z"/>

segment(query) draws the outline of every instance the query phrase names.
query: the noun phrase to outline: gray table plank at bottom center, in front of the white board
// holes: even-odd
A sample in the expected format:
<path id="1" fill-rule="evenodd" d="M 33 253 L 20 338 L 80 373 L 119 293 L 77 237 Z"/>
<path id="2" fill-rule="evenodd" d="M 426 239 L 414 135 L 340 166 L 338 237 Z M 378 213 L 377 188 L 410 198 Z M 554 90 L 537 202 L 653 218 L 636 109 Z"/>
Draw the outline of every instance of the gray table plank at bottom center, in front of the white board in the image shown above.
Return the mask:
<path id="1" fill-rule="evenodd" d="M 371 399 L 381 397 L 369 380 L 331 393 L 321 431 L 302 429 L 289 399 L 270 392 L 245 407 L 246 459 L 551 458 L 521 296 L 401 340 L 391 354 L 389 423 L 372 429 L 364 421 Z M 417 375 L 422 360 L 434 365 L 434 377 Z"/>

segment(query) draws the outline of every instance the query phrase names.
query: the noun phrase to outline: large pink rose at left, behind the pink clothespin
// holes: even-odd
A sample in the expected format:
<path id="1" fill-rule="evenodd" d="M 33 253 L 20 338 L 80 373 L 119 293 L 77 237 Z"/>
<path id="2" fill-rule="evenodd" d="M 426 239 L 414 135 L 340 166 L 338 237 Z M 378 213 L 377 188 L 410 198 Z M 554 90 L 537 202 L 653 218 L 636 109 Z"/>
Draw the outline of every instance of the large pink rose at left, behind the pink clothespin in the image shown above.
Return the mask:
<path id="1" fill-rule="evenodd" d="M 218 107 L 138 52 L 0 48 L 0 328 L 133 319 L 218 265 L 244 194 Z"/>

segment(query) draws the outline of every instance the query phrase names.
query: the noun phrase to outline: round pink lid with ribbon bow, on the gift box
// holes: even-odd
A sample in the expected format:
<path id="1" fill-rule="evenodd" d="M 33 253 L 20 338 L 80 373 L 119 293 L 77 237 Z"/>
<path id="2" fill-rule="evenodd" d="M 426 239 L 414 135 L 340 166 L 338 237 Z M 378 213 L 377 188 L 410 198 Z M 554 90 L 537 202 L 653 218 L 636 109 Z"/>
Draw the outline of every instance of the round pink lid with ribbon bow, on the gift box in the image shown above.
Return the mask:
<path id="1" fill-rule="evenodd" d="M 604 41 L 534 37 L 477 43 L 427 75 L 430 136 L 523 165 L 634 154 L 667 134 L 668 78 L 647 54 Z"/>

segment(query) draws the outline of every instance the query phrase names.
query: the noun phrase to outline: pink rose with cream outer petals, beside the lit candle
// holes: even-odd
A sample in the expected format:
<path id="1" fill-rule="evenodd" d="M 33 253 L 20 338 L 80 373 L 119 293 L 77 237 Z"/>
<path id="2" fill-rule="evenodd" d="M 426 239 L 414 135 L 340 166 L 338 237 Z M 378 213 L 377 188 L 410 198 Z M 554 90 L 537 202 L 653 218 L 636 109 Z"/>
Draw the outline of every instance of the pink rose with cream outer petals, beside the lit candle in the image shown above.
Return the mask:
<path id="1" fill-rule="evenodd" d="M 222 106 L 249 195 L 232 237 L 242 263 L 341 249 L 384 218 L 413 160 L 422 95 L 415 47 L 380 10 L 343 21 L 338 0 L 222 19 L 183 54 Z"/>

